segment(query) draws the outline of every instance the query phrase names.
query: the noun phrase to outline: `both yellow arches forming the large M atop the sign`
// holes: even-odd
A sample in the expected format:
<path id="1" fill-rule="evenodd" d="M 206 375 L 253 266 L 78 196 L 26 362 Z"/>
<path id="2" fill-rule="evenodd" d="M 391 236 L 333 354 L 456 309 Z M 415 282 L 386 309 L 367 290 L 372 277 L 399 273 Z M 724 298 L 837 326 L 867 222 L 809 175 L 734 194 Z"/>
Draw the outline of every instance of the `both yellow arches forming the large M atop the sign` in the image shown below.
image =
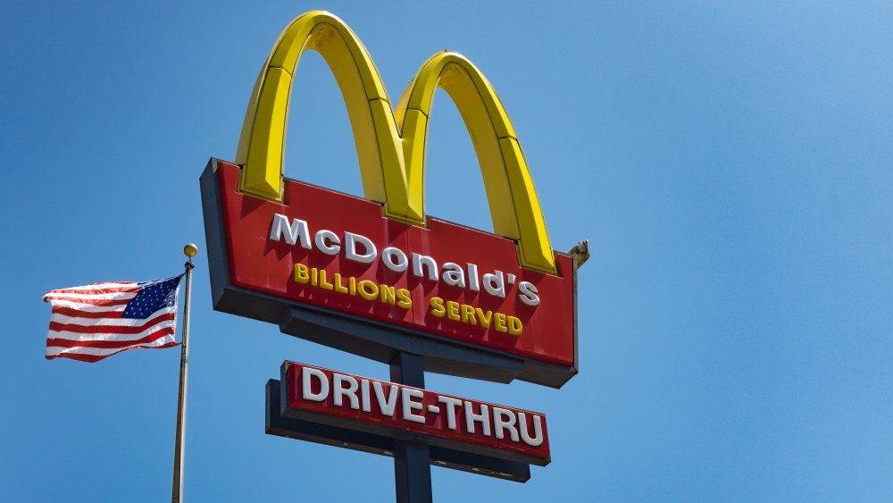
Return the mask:
<path id="1" fill-rule="evenodd" d="M 555 273 L 555 257 L 521 145 L 496 92 L 461 54 L 422 65 L 396 109 L 363 43 L 330 13 L 305 13 L 288 25 L 257 78 L 236 162 L 242 192 L 279 200 L 288 98 L 301 54 L 319 52 L 344 96 L 366 198 L 388 218 L 424 223 L 424 153 L 437 88 L 453 98 L 469 130 L 487 190 L 494 231 L 518 243 L 522 266 Z M 399 129 L 397 128 L 399 123 Z"/>

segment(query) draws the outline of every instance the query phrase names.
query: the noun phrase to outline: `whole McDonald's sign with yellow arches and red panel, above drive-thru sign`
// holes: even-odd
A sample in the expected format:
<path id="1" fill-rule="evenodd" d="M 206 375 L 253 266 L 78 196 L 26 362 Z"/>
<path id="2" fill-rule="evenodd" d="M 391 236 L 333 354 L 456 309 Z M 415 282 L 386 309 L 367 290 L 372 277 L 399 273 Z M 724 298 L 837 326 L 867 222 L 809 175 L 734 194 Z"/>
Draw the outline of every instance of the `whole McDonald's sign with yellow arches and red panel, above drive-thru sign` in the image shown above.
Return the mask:
<path id="1" fill-rule="evenodd" d="M 288 99 L 305 51 L 344 96 L 364 197 L 283 177 Z M 434 92 L 462 114 L 493 233 L 425 214 Z M 574 256 L 556 253 L 512 123 L 461 54 L 422 64 L 396 108 L 366 48 L 330 13 L 306 13 L 276 41 L 249 100 L 234 163 L 201 177 L 216 310 L 387 362 L 560 387 L 577 373 Z"/>

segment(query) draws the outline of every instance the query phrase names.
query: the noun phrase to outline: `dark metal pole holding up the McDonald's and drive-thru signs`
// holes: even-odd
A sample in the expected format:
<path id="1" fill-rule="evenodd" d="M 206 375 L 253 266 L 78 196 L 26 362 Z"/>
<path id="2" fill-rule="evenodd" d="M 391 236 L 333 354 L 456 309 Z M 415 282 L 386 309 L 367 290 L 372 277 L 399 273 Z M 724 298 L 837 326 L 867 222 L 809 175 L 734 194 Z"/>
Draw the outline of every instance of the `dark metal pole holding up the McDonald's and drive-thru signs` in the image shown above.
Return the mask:
<path id="1" fill-rule="evenodd" d="M 390 380 L 425 387 L 424 357 L 400 351 L 390 361 Z M 394 483 L 397 503 L 431 503 L 431 455 L 428 443 L 396 440 Z"/>

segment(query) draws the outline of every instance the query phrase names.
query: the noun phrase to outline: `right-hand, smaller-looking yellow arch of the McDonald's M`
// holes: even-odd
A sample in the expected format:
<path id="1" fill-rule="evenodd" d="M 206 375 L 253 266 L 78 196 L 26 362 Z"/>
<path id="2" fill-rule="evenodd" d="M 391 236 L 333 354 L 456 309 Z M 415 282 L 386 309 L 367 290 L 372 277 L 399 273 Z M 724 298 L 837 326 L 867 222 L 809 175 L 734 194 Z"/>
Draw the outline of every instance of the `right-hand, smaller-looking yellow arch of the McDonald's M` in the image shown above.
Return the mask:
<path id="1" fill-rule="evenodd" d="M 472 137 L 493 231 L 518 241 L 525 267 L 555 272 L 546 222 L 512 122 L 487 78 L 462 54 L 445 51 L 431 56 L 397 105 L 410 204 L 424 208 L 425 144 L 437 88 L 453 98 Z"/>

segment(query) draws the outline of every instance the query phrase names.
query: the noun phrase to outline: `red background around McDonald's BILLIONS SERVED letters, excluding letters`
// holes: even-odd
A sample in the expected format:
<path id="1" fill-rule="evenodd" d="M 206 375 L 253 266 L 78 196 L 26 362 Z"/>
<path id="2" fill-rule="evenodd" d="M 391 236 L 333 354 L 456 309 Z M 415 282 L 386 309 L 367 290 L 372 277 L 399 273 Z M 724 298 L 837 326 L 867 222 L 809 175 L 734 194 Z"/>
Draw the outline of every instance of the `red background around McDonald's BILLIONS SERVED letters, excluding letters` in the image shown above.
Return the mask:
<path id="1" fill-rule="evenodd" d="M 246 197 L 237 189 L 238 166 L 218 162 L 217 167 L 230 281 L 234 286 L 548 363 L 574 365 L 573 265 L 570 256 L 555 254 L 557 276 L 522 269 L 511 239 L 431 217 L 427 228 L 396 222 L 382 216 L 378 203 L 295 180 L 286 180 L 282 203 Z M 464 269 L 466 263 L 471 262 L 478 265 L 481 276 L 499 270 L 506 275 L 515 274 L 517 281 L 514 285 L 506 282 L 505 298 L 497 298 L 482 288 L 480 292 L 473 292 L 443 281 L 416 278 L 411 271 L 392 272 L 381 264 L 380 257 L 371 264 L 358 264 L 346 260 L 343 250 L 337 256 L 328 256 L 315 247 L 306 250 L 300 245 L 291 246 L 284 240 L 269 239 L 273 214 L 284 214 L 289 221 L 298 218 L 307 222 L 311 240 L 321 229 L 333 231 L 340 239 L 343 239 L 344 231 L 350 231 L 371 239 L 379 254 L 385 247 L 397 247 L 407 256 L 413 252 L 431 256 L 438 266 L 453 262 Z M 340 272 L 344 277 L 356 277 L 357 281 L 370 280 L 408 289 L 412 292 L 413 306 L 407 310 L 297 283 L 293 281 L 296 263 L 325 269 L 329 281 L 335 272 Z M 539 306 L 527 306 L 520 300 L 517 284 L 521 281 L 536 285 Z M 513 336 L 495 331 L 492 322 L 488 329 L 483 329 L 480 325 L 435 317 L 429 313 L 429 302 L 433 297 L 513 315 L 522 321 L 523 332 Z"/>

